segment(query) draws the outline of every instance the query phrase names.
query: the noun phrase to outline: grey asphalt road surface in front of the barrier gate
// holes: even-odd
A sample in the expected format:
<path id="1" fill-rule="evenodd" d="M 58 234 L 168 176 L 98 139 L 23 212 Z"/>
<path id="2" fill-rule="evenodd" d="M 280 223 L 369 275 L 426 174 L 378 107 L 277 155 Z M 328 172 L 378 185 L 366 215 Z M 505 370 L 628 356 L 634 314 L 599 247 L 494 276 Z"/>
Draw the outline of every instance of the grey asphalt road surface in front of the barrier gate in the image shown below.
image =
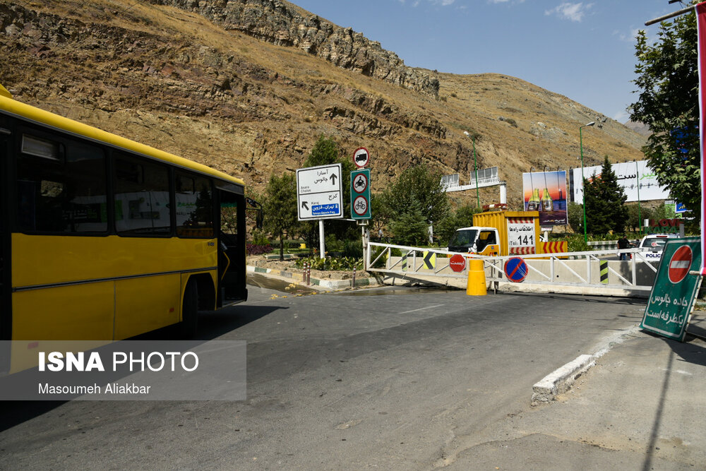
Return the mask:
<path id="1" fill-rule="evenodd" d="M 459 437 L 532 410 L 534 383 L 642 311 L 600 297 L 251 286 L 249 302 L 200 325 L 204 339 L 248 342 L 247 400 L 4 403 L 0 467 L 450 465 Z"/>

